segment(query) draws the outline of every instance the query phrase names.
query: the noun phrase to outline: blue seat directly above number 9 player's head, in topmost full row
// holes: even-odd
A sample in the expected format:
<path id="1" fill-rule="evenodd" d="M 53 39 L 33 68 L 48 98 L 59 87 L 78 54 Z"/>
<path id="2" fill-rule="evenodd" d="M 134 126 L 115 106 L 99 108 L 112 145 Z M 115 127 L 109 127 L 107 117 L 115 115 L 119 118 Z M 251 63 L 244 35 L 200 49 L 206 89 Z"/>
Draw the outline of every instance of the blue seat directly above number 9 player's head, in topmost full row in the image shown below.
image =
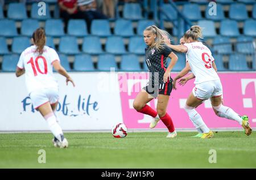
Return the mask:
<path id="1" fill-rule="evenodd" d="M 200 7 L 197 4 L 185 4 L 182 12 L 189 20 L 195 21 L 202 19 Z"/>

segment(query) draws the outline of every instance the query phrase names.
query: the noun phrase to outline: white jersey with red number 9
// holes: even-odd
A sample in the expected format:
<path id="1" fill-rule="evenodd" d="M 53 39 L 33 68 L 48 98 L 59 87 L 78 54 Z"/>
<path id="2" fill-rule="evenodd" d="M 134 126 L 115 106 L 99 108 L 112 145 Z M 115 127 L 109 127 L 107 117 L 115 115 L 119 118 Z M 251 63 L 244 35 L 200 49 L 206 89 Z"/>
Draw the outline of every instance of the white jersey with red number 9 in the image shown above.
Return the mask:
<path id="1" fill-rule="evenodd" d="M 195 75 L 195 84 L 220 79 L 212 67 L 214 58 L 212 52 L 201 42 L 185 43 L 187 48 L 186 58 Z"/>

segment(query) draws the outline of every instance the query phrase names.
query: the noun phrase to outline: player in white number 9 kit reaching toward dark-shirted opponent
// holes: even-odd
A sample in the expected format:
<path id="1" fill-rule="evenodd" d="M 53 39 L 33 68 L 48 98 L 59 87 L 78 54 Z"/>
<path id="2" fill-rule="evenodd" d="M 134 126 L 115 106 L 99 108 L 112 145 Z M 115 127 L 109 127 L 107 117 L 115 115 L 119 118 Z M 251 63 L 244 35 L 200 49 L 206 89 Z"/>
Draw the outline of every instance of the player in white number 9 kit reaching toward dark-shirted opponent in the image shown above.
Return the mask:
<path id="1" fill-rule="evenodd" d="M 195 107 L 199 106 L 203 101 L 210 98 L 214 110 L 225 115 L 229 119 L 236 120 L 245 129 L 245 134 L 249 136 L 252 129 L 248 119 L 243 119 L 230 107 L 226 107 L 221 103 L 222 85 L 220 78 L 217 74 L 217 68 L 214 63 L 214 58 L 209 48 L 207 48 L 199 38 L 202 38 L 201 27 L 192 26 L 184 34 L 185 44 L 183 45 L 169 45 L 177 52 L 186 53 L 186 59 L 191 68 L 192 74 L 189 75 L 189 79 L 195 79 L 195 87 L 192 93 L 189 95 L 185 104 L 185 111 L 187 111 L 189 119 L 196 124 L 203 131 L 201 138 L 213 137 L 213 132 L 205 125 L 200 114 L 195 110 Z M 182 76 L 181 76 L 182 77 Z M 174 79 L 174 89 L 176 89 L 175 82 L 180 77 Z"/>

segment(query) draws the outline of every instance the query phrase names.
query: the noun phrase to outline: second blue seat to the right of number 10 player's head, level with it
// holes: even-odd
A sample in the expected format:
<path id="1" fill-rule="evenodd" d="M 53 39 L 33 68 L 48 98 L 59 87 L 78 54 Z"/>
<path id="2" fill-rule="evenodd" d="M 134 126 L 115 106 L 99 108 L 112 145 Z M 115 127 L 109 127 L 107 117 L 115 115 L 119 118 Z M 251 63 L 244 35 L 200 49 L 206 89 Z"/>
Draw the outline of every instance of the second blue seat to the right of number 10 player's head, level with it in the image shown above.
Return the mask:
<path id="1" fill-rule="evenodd" d="M 63 36 L 60 38 L 59 52 L 66 55 L 76 55 L 79 53 L 76 37 Z"/>

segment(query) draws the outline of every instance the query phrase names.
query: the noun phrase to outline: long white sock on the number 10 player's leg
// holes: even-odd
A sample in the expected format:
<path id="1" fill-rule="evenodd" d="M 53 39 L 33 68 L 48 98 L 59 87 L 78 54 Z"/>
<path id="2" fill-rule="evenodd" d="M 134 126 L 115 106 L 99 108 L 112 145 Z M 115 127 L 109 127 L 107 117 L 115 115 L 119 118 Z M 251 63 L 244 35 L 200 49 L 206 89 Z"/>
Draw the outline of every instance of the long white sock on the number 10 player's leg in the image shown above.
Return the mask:
<path id="1" fill-rule="evenodd" d="M 44 116 L 44 119 L 46 119 L 49 129 L 53 133 L 54 137 L 56 137 L 56 139 L 61 142 L 61 135 L 63 135 L 63 132 L 60 125 L 56 122 L 55 115 L 53 113 L 50 113 Z"/>

